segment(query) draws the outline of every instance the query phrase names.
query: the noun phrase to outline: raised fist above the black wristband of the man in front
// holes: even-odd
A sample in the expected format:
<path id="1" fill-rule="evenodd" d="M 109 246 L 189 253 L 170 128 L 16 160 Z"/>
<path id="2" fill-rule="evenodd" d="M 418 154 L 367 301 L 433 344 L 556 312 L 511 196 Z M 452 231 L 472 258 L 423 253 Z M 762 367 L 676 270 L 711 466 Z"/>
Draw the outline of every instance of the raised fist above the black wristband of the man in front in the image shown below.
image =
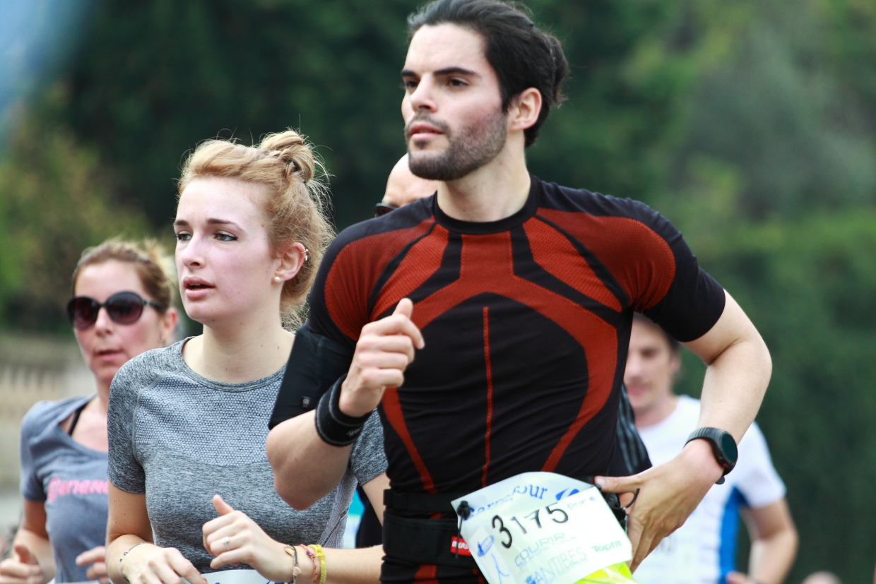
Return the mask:
<path id="1" fill-rule="evenodd" d="M 423 335 L 413 324 L 413 302 L 401 299 L 385 319 L 362 328 L 350 371 L 341 386 L 341 412 L 359 418 L 380 403 L 387 387 L 405 383 L 405 369 L 414 348 L 423 348 Z"/>

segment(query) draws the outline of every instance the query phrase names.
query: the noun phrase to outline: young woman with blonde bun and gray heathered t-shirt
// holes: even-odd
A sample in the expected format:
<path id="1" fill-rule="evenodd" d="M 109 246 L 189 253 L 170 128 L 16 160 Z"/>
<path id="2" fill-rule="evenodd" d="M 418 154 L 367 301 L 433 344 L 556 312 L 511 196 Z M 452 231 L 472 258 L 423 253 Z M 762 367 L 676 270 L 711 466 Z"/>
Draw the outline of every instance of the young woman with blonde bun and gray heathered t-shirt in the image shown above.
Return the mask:
<path id="1" fill-rule="evenodd" d="M 118 584 L 204 584 L 202 573 L 247 567 L 261 582 L 379 580 L 380 547 L 323 559 L 299 545 L 340 545 L 357 483 L 382 510 L 378 419 L 343 481 L 304 511 L 279 498 L 265 455 L 294 340 L 284 320 L 300 321 L 331 237 L 315 166 L 291 130 L 257 147 L 210 140 L 187 160 L 176 261 L 203 334 L 141 355 L 113 381 L 107 565 Z"/>

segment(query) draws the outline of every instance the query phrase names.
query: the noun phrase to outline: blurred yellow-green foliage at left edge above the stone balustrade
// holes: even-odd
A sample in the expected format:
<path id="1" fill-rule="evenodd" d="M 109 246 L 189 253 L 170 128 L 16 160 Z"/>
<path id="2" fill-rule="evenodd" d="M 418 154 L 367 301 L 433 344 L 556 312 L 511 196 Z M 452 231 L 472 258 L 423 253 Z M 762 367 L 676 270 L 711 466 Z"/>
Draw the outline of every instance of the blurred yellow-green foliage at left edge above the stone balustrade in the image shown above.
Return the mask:
<path id="1" fill-rule="evenodd" d="M 51 109 L 63 89 L 45 99 Z M 0 162 L 0 323 L 68 334 L 64 307 L 82 250 L 146 229 L 142 215 L 111 201 L 95 151 L 31 116 Z"/>

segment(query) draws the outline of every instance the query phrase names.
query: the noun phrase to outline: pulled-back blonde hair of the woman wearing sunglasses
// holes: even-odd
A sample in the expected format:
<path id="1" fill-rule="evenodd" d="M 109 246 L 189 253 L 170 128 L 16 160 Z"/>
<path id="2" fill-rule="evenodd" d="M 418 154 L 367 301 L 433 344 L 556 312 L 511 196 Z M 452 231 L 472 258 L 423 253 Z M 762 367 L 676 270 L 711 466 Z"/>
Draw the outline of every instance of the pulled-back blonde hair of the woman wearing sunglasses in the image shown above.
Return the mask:
<path id="1" fill-rule="evenodd" d="M 76 280 L 79 279 L 82 270 L 89 265 L 112 261 L 133 266 L 146 294 L 161 305 L 159 312 L 164 313 L 173 304 L 176 270 L 171 257 L 154 239 L 126 242 L 114 237 L 84 250 L 73 271 L 73 295 L 76 295 Z"/>

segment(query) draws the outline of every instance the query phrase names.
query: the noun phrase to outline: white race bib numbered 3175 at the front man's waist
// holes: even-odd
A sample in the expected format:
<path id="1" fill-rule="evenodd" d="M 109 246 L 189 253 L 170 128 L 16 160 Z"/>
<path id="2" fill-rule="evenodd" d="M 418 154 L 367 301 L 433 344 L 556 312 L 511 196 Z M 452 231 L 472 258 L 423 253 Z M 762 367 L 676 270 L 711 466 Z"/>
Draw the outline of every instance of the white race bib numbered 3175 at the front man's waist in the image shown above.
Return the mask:
<path id="1" fill-rule="evenodd" d="M 490 584 L 574 584 L 632 559 L 626 533 L 586 482 L 523 473 L 456 499 L 454 508 L 463 501 L 472 511 L 457 545 Z"/>

